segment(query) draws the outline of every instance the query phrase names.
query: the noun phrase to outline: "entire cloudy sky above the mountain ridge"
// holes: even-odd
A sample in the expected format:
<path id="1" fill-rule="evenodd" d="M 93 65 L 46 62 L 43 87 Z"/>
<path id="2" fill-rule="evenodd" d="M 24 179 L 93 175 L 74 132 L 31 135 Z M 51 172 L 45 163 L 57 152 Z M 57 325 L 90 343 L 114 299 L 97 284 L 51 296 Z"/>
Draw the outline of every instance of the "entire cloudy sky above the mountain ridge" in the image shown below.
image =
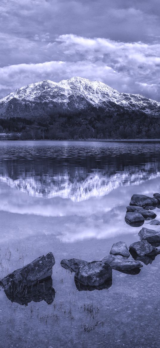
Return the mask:
<path id="1" fill-rule="evenodd" d="M 1 0 L 0 97 L 73 76 L 160 101 L 159 0 Z"/>

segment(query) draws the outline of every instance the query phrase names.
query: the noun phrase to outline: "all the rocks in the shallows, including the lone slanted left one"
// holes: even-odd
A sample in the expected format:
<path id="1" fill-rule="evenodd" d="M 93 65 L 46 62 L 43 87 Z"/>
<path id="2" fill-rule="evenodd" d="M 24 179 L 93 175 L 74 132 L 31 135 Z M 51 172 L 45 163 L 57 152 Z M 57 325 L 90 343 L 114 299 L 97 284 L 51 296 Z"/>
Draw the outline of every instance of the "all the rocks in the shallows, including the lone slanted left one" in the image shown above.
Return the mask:
<path id="1" fill-rule="evenodd" d="M 159 204 L 159 193 L 154 193 L 153 197 L 133 195 L 127 206 L 125 221 L 130 226 L 141 226 L 144 220 L 155 219 L 157 215 L 151 210 Z M 152 224 L 159 225 L 160 221 L 154 220 Z M 101 261 L 63 259 L 61 266 L 75 272 L 75 285 L 79 291 L 109 288 L 112 285 L 112 269 L 135 275 L 143 267 L 142 262 L 146 265 L 152 263 L 160 254 L 160 248 L 157 248 L 160 246 L 159 231 L 142 228 L 138 236 L 140 241 L 130 244 L 129 250 L 125 242 L 114 243 L 109 255 Z M 133 259 L 129 259 L 130 255 Z M 44 300 L 51 304 L 55 296 L 51 277 L 54 264 L 55 259 L 50 252 L 10 273 L 0 280 L 0 285 L 12 302 L 27 305 L 31 301 Z"/>

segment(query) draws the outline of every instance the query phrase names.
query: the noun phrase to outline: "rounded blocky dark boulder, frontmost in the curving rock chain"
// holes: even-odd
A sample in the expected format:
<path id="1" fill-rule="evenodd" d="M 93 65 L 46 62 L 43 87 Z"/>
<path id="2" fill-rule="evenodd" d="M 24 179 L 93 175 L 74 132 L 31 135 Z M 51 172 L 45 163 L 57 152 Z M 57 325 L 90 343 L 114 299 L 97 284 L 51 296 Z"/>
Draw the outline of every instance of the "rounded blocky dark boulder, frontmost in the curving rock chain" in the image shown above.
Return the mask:
<path id="1" fill-rule="evenodd" d="M 112 280 L 112 269 L 109 264 L 102 261 L 92 261 L 79 266 L 75 273 L 75 283 L 89 290 L 107 287 Z"/>

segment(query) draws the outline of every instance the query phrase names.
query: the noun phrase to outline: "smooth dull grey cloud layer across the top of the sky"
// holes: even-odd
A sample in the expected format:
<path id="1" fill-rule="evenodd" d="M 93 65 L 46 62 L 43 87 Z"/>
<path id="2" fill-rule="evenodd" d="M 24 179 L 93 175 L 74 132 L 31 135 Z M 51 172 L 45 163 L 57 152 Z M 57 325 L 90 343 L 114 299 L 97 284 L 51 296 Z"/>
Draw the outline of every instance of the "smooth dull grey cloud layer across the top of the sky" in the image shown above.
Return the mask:
<path id="1" fill-rule="evenodd" d="M 112 40 L 148 40 L 160 35 L 156 0 L 2 0 L 1 25 L 6 33 L 34 35 L 74 33 Z"/>

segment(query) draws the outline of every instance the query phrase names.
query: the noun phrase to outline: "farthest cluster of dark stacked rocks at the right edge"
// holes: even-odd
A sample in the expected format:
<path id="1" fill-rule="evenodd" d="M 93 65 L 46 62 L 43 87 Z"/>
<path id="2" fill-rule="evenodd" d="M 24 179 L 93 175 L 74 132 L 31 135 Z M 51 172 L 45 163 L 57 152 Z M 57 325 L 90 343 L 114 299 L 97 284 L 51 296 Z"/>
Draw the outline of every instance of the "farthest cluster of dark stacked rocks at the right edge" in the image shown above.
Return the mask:
<path id="1" fill-rule="evenodd" d="M 153 197 L 133 195 L 126 207 L 125 221 L 132 227 L 142 226 L 145 220 L 155 219 L 157 215 L 152 210 L 156 207 L 160 208 L 160 193 L 154 193 Z"/>

